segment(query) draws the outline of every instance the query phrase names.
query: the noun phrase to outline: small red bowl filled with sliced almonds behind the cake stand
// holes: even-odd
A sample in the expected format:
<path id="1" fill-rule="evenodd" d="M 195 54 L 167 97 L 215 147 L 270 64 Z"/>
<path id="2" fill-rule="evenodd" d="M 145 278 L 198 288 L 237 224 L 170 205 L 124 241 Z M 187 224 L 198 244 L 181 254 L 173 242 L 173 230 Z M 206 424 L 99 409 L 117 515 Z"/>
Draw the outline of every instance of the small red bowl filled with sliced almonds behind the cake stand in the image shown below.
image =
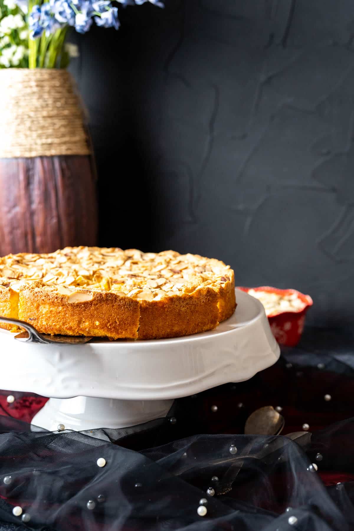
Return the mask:
<path id="1" fill-rule="evenodd" d="M 271 286 L 239 287 L 257 298 L 263 306 L 275 339 L 280 345 L 295 347 L 304 330 L 305 315 L 313 305 L 312 298 L 296 289 L 278 289 Z"/>

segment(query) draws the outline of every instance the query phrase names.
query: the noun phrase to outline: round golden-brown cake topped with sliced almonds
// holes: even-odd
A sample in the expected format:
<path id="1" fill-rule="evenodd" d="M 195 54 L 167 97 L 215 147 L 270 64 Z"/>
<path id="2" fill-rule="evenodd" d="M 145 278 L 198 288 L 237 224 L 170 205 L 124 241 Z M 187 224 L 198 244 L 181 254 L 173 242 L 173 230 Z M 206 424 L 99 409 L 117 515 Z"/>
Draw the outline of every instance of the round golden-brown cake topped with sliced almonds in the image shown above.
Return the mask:
<path id="1" fill-rule="evenodd" d="M 0 258 L 0 315 L 42 333 L 186 336 L 217 327 L 235 307 L 234 271 L 199 255 L 66 247 Z"/>

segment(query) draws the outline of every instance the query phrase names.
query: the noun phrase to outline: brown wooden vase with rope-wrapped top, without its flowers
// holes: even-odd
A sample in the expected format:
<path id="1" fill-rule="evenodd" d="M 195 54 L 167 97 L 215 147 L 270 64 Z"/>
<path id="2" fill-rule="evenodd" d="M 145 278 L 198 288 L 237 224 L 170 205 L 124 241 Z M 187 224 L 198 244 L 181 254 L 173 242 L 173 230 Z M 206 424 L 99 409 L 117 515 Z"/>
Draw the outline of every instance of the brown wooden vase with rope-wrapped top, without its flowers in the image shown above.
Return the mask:
<path id="1" fill-rule="evenodd" d="M 0 256 L 96 245 L 96 171 L 72 76 L 0 70 L 0 117 Z"/>

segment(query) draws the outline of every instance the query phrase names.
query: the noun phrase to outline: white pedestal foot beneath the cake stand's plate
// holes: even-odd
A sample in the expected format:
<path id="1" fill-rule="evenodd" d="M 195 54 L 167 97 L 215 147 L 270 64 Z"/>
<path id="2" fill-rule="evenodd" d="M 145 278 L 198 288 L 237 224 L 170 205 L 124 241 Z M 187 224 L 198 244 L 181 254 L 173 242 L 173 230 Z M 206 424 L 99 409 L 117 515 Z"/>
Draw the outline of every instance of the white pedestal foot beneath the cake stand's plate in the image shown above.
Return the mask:
<path id="1" fill-rule="evenodd" d="M 111 398 L 50 398 L 32 419 L 34 426 L 56 431 L 122 428 L 166 417 L 173 400 L 116 400 Z"/>

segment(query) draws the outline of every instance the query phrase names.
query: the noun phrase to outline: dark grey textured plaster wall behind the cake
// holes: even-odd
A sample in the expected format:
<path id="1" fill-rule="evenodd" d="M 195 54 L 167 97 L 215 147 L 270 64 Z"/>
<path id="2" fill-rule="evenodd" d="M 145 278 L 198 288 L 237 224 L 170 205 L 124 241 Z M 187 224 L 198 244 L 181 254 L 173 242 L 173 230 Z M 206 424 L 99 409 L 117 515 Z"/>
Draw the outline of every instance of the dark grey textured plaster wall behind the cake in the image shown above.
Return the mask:
<path id="1" fill-rule="evenodd" d="M 100 244 L 230 263 L 354 310 L 354 3 L 166 0 L 80 39 Z M 310 316 L 311 315 L 311 316 Z"/>

